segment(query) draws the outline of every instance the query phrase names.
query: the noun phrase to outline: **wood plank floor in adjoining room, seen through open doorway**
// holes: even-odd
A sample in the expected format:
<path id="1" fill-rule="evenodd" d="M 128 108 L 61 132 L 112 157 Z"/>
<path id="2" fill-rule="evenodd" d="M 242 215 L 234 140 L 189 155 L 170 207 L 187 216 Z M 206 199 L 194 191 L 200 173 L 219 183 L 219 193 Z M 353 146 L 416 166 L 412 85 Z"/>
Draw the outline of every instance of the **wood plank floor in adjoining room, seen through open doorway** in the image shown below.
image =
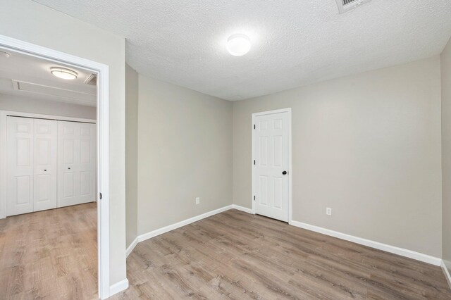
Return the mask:
<path id="1" fill-rule="evenodd" d="M 98 299 L 95 202 L 0 220 L 0 299 Z"/>

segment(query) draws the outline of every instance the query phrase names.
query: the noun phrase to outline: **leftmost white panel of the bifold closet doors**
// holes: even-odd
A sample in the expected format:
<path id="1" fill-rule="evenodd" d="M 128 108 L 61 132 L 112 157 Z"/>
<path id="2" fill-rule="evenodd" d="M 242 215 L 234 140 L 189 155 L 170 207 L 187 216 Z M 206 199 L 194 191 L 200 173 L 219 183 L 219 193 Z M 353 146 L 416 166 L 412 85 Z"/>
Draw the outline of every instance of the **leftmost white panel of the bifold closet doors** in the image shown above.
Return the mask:
<path id="1" fill-rule="evenodd" d="M 33 119 L 7 117 L 6 215 L 33 211 Z"/>

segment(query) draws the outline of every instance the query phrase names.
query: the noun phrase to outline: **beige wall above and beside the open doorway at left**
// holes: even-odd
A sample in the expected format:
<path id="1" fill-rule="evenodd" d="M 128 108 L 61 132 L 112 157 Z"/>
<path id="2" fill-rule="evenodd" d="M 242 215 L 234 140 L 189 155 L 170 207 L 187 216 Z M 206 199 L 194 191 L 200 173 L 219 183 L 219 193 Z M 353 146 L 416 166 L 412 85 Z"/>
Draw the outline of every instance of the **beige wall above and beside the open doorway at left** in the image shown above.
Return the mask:
<path id="1" fill-rule="evenodd" d="M 7 0 L 0 35 L 109 65 L 110 284 L 125 279 L 125 40 L 29 0 Z"/>

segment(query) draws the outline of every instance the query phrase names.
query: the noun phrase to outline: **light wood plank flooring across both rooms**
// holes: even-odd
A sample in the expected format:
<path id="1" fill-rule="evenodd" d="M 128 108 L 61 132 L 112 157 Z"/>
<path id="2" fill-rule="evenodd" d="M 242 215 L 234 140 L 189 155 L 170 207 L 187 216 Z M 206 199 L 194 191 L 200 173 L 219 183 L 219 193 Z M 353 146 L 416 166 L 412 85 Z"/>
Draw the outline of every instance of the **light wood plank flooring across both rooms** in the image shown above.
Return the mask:
<path id="1" fill-rule="evenodd" d="M 0 220 L 0 299 L 97 299 L 95 204 Z M 138 244 L 112 299 L 451 299 L 440 268 L 226 211 Z"/>

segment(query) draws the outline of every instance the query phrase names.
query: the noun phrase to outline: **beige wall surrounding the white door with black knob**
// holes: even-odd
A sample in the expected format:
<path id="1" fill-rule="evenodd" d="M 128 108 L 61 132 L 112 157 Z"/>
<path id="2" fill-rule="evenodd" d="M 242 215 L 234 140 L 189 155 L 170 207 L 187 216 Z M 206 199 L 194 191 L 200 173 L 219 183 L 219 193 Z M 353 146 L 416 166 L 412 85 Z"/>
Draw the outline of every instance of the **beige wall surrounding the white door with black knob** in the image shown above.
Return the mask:
<path id="1" fill-rule="evenodd" d="M 234 204 L 252 113 L 288 107 L 294 220 L 441 257 L 440 57 L 233 103 Z"/>

